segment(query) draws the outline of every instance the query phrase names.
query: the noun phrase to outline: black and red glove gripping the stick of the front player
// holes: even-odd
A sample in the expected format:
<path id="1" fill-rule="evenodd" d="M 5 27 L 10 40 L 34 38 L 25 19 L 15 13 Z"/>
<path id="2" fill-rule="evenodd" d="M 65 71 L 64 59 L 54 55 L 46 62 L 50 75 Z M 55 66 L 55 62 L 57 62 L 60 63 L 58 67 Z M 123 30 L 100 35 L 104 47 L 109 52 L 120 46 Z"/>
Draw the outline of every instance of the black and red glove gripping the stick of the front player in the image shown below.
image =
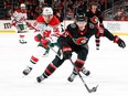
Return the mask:
<path id="1" fill-rule="evenodd" d="M 70 46 L 63 46 L 62 52 L 63 52 L 63 57 L 65 60 L 71 58 L 71 56 L 72 56 L 72 49 Z"/>

